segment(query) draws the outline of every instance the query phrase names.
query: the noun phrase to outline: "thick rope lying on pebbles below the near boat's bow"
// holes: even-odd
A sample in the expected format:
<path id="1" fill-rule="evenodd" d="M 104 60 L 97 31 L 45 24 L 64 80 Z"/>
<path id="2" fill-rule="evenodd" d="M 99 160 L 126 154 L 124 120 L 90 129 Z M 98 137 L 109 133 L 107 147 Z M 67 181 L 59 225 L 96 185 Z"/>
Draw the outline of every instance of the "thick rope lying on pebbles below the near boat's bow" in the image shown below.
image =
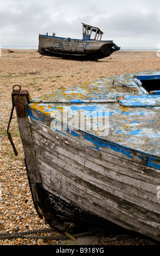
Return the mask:
<path id="1" fill-rule="evenodd" d="M 22 239 L 46 239 L 46 240 L 65 240 L 68 239 L 69 237 L 67 235 L 63 235 L 63 236 L 54 236 L 54 235 L 49 235 L 49 236 L 43 236 L 43 235 L 32 235 L 34 233 L 47 233 L 47 232 L 51 232 L 51 231 L 55 231 L 54 229 L 39 229 L 39 230 L 30 230 L 30 231 L 24 231 L 24 232 L 19 232 L 16 234 L 8 234 L 8 233 L 2 233 L 0 234 L 0 240 L 2 239 L 14 239 L 14 238 L 22 238 Z M 91 235 L 94 234 L 95 230 L 93 231 L 88 231 L 85 233 L 79 233 L 79 234 L 73 234 L 72 236 L 74 238 L 77 237 L 82 237 L 82 236 L 87 236 L 87 235 Z"/>

